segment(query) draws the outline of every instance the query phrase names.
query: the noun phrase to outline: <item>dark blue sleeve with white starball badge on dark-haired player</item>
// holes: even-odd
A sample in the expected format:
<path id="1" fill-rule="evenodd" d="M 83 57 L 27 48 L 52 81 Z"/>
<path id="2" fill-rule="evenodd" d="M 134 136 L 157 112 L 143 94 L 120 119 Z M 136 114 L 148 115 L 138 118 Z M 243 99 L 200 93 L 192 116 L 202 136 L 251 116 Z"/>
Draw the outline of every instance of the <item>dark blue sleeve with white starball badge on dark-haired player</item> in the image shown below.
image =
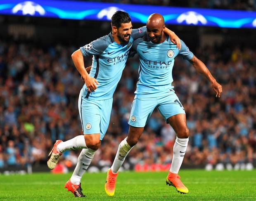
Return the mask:
<path id="1" fill-rule="evenodd" d="M 108 44 L 105 40 L 98 38 L 97 40 L 93 40 L 91 43 L 80 47 L 80 50 L 84 57 L 91 55 L 100 55 L 106 50 Z"/>

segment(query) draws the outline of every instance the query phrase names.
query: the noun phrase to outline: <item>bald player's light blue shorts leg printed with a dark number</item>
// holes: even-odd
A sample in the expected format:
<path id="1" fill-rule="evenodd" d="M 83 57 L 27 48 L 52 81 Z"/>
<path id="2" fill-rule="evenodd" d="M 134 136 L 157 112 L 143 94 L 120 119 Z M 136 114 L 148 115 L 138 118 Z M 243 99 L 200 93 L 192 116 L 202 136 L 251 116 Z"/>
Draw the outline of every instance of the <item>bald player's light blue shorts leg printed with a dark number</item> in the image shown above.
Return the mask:
<path id="1" fill-rule="evenodd" d="M 177 114 L 185 115 L 185 109 L 183 108 L 176 94 L 168 95 L 166 97 L 159 97 L 158 102 L 159 104 L 157 106 L 157 109 L 164 117 L 166 122 L 167 119 L 171 116 Z"/>

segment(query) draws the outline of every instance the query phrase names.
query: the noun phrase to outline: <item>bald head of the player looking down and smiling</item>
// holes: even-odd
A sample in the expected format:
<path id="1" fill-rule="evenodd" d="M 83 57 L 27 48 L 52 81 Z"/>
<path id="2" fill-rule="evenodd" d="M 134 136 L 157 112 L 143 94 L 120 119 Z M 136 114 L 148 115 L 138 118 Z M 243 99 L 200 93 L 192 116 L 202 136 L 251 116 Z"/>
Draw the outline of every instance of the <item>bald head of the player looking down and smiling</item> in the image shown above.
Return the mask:
<path id="1" fill-rule="evenodd" d="M 154 13 L 147 19 L 147 34 L 152 43 L 164 42 L 164 28 L 164 17 L 161 14 Z"/>

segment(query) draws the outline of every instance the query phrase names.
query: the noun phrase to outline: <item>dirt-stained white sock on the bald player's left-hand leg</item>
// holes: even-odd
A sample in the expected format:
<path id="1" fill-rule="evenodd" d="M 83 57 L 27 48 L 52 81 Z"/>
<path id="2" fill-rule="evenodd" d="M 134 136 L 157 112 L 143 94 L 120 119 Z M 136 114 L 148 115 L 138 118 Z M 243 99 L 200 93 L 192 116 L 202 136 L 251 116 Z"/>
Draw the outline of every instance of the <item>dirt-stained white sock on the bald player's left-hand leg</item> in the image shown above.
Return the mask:
<path id="1" fill-rule="evenodd" d="M 117 173 L 119 168 L 123 165 L 123 162 L 128 155 L 129 151 L 133 148 L 126 141 L 127 137 L 119 144 L 114 163 L 111 166 L 112 173 Z"/>

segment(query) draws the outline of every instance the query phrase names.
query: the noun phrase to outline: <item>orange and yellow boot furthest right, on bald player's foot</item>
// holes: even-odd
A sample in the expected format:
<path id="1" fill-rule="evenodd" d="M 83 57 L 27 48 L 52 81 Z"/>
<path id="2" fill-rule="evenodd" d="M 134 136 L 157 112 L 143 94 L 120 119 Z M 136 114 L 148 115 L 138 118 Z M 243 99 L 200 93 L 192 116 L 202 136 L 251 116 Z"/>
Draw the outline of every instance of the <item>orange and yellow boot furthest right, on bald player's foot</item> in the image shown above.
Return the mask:
<path id="1" fill-rule="evenodd" d="M 180 176 L 178 174 L 174 174 L 169 172 L 166 177 L 166 185 L 173 186 L 177 189 L 177 191 L 181 194 L 188 193 L 187 187 L 180 181 Z"/>

